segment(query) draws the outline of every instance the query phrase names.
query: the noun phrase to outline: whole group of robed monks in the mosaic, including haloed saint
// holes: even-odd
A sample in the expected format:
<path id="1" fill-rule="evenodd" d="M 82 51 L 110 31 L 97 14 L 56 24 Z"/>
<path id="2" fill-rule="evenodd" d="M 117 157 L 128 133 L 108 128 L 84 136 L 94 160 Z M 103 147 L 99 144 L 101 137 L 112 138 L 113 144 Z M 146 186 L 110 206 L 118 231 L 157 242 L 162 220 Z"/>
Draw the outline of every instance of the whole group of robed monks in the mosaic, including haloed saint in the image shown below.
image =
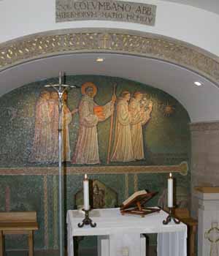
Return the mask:
<path id="1" fill-rule="evenodd" d="M 120 97 L 113 94 L 110 102 L 99 106 L 93 99 L 97 92 L 93 83 L 84 83 L 81 90 L 80 104 L 72 111 L 66 105 L 67 94 L 63 95 L 62 160 L 73 164 L 99 164 L 97 125 L 113 114 L 115 126 L 110 161 L 131 162 L 145 159 L 142 126 L 150 120 L 152 102 L 148 104 L 147 100 L 143 100 L 141 91 L 136 91 L 133 97 L 129 91 L 123 91 Z M 69 124 L 76 113 L 79 114 L 79 129 L 71 158 Z M 58 115 L 58 93 L 42 91 L 36 106 L 30 162 L 58 162 Z"/>

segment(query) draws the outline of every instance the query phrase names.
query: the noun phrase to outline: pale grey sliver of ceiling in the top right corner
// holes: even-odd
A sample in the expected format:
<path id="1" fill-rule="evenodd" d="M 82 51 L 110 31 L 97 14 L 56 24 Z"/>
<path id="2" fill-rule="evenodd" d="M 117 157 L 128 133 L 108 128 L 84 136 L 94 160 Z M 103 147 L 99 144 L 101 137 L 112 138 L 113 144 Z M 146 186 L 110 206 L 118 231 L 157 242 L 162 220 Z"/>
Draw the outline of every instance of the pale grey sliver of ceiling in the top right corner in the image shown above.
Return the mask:
<path id="1" fill-rule="evenodd" d="M 219 14 L 219 1 L 218 0 L 162 0 L 162 1 L 170 1 L 177 4 L 187 4 L 193 7 L 198 7 L 210 12 L 215 12 Z"/>

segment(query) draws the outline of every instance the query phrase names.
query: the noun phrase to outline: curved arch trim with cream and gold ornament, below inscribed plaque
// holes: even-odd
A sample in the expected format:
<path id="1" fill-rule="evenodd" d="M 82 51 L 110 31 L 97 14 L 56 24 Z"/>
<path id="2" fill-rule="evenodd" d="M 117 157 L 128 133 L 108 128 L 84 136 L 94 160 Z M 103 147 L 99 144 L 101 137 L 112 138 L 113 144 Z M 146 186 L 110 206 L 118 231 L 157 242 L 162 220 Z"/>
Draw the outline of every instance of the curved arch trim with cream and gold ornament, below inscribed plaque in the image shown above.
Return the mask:
<path id="1" fill-rule="evenodd" d="M 188 43 L 123 29 L 47 31 L 0 44 L 0 71 L 26 61 L 71 53 L 121 53 L 168 61 L 219 85 L 219 58 Z"/>

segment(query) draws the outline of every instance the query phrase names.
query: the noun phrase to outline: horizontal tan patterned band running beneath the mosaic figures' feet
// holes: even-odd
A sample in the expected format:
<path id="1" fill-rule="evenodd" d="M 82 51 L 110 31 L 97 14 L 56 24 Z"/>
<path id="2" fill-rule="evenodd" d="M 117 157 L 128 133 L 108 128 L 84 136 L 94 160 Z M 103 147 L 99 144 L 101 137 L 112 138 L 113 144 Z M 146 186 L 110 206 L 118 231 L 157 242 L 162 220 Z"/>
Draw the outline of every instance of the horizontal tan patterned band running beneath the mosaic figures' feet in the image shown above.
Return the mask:
<path id="1" fill-rule="evenodd" d="M 64 174 L 126 174 L 126 173 L 180 173 L 183 176 L 188 173 L 188 163 L 180 165 L 132 165 L 132 166 L 82 166 L 64 167 Z M 0 168 L 0 175 L 58 175 L 58 167 L 23 167 Z"/>

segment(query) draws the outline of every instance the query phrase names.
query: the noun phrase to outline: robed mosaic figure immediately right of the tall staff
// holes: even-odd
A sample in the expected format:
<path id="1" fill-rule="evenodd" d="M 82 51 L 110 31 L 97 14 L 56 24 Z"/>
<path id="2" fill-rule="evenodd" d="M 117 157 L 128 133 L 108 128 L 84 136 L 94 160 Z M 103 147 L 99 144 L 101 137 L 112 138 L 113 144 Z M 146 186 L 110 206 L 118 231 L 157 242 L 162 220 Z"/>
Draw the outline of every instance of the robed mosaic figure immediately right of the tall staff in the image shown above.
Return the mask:
<path id="1" fill-rule="evenodd" d="M 134 161 L 134 152 L 131 140 L 131 113 L 128 110 L 128 101 L 131 95 L 123 91 L 117 102 L 115 119 L 115 138 L 112 147 L 112 162 Z"/>

